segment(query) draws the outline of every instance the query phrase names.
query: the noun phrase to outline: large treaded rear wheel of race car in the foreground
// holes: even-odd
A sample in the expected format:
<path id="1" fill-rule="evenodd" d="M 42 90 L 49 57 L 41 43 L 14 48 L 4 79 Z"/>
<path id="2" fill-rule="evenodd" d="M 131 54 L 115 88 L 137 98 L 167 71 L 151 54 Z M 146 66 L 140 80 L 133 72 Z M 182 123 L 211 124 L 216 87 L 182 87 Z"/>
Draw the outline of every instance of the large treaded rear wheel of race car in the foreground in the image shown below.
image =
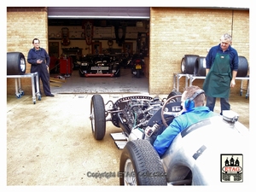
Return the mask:
<path id="1" fill-rule="evenodd" d="M 147 140 L 125 145 L 119 164 L 120 185 L 167 185 L 160 156 Z"/>

